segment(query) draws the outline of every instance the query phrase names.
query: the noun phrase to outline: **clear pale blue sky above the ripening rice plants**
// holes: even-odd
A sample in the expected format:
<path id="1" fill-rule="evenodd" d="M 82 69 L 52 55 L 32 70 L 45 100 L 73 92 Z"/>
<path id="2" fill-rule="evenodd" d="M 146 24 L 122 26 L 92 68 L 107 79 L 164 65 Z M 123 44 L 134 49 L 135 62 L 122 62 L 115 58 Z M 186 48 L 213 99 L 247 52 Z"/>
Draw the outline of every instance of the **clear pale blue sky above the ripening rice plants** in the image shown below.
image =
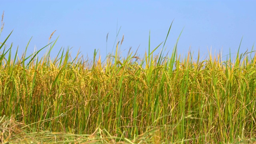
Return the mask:
<path id="1" fill-rule="evenodd" d="M 4 11 L 4 30 L 0 36 L 3 42 L 8 34 L 9 46 L 19 46 L 19 56 L 32 37 L 28 52 L 48 44 L 52 36 L 58 41 L 53 53 L 61 47 L 72 47 L 72 56 L 80 51 L 92 56 L 94 49 L 102 57 L 112 52 L 116 33 L 124 41 L 120 48 L 126 56 L 129 48 L 144 56 L 166 38 L 174 20 L 166 51 L 172 50 L 180 32 L 178 53 L 186 55 L 189 48 L 195 56 L 222 50 L 222 55 L 236 53 L 241 41 L 240 52 L 251 50 L 256 42 L 255 0 L 1 0 L 0 13 Z M 106 36 L 108 34 L 108 42 Z M 163 45 L 160 46 L 158 53 Z M 255 50 L 255 48 L 254 48 Z M 40 54 L 44 54 L 46 50 Z"/>

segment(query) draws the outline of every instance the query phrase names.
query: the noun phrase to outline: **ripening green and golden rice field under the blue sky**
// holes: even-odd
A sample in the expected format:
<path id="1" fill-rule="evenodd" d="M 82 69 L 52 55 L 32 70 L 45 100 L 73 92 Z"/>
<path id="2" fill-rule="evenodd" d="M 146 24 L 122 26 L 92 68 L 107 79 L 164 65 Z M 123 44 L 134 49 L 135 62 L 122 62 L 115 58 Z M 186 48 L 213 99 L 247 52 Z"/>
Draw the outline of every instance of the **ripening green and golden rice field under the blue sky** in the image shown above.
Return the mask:
<path id="1" fill-rule="evenodd" d="M 19 57 L 8 37 L 0 44 L 1 143 L 256 142 L 253 46 L 200 60 L 200 52 L 178 56 L 178 40 L 168 55 L 153 54 L 165 40 L 143 57 L 121 57 L 118 42 L 102 60 L 96 50 L 93 59 L 69 49 L 51 58 L 54 40 Z"/>

